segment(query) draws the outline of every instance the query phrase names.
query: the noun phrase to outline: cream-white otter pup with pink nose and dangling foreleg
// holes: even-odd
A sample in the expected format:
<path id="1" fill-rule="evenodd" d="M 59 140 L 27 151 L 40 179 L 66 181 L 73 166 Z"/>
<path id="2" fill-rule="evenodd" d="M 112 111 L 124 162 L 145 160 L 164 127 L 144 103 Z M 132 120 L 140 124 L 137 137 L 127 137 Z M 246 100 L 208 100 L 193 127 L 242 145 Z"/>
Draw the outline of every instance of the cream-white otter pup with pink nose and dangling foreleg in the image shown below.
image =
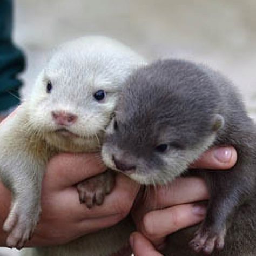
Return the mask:
<path id="1" fill-rule="evenodd" d="M 48 159 L 63 151 L 100 150 L 120 86 L 143 63 L 132 50 L 105 37 L 79 38 L 56 50 L 31 97 L 0 126 L 0 177 L 12 193 L 3 226 L 8 246 L 22 248 L 39 220 Z M 91 254 L 83 248 L 83 255 Z"/>

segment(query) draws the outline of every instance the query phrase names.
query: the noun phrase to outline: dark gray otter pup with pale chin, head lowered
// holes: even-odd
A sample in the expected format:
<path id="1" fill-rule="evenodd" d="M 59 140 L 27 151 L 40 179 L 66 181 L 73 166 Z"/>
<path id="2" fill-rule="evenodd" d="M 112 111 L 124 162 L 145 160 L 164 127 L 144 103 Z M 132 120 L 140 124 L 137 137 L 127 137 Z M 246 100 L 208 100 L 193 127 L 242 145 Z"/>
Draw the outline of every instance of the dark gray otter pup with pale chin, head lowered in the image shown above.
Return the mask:
<path id="1" fill-rule="evenodd" d="M 208 147 L 223 144 L 237 149 L 238 161 L 230 171 L 197 172 L 211 198 L 190 247 L 206 254 L 216 249 L 214 255 L 254 255 L 255 126 L 233 85 L 218 72 L 183 60 L 138 69 L 126 80 L 102 156 L 111 169 L 139 183 L 166 184 L 193 175 L 188 165 Z M 219 251 L 226 233 L 225 250 Z M 165 255 L 196 255 L 184 245 L 186 235 Z"/>

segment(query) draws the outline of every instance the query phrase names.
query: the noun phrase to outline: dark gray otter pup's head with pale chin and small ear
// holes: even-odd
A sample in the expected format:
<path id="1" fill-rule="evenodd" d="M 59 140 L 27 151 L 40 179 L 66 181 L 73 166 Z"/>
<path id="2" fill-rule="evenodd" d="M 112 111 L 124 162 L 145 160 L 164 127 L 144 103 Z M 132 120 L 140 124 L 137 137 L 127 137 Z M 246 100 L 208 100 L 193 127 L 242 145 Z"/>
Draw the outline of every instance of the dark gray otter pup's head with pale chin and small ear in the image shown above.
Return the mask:
<path id="1" fill-rule="evenodd" d="M 139 69 L 126 81 L 107 129 L 105 164 L 142 184 L 173 180 L 223 126 L 217 97 L 192 63 L 166 60 Z"/>

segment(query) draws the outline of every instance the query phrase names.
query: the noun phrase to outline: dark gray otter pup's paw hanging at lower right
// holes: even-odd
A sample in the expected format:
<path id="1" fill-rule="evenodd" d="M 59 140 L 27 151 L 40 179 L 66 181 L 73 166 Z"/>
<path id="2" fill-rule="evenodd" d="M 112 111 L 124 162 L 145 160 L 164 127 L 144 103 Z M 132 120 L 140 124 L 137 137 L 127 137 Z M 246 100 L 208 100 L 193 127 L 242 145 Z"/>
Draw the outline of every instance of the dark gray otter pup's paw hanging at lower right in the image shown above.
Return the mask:
<path id="1" fill-rule="evenodd" d="M 189 245 L 195 252 L 203 251 L 205 254 L 211 254 L 214 249 L 221 250 L 225 244 L 226 228 L 215 232 L 211 227 L 202 225 L 195 233 L 195 237 Z"/>

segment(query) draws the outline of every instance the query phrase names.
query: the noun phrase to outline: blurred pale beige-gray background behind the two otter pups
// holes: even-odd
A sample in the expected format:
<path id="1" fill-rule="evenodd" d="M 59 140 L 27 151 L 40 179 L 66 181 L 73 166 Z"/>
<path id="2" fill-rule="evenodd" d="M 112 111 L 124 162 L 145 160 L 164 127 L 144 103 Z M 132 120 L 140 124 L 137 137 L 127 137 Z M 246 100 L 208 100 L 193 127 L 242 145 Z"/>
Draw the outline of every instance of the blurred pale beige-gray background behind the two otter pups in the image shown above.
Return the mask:
<path id="1" fill-rule="evenodd" d="M 14 41 L 27 58 L 23 95 L 54 46 L 105 35 L 149 60 L 185 58 L 222 71 L 256 119 L 255 13 L 254 0 L 16 0 Z"/>

